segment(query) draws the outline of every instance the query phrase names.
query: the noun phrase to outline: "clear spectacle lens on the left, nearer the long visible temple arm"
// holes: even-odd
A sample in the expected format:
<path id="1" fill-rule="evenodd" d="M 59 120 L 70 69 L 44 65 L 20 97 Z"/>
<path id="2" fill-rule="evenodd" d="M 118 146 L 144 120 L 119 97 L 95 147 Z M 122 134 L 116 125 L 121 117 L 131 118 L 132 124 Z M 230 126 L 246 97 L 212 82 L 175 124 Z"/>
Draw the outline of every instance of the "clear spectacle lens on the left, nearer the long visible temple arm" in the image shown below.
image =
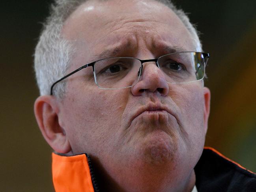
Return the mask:
<path id="1" fill-rule="evenodd" d="M 95 63 L 95 81 L 100 88 L 131 87 L 138 81 L 140 60 L 135 58 L 110 58 Z"/>

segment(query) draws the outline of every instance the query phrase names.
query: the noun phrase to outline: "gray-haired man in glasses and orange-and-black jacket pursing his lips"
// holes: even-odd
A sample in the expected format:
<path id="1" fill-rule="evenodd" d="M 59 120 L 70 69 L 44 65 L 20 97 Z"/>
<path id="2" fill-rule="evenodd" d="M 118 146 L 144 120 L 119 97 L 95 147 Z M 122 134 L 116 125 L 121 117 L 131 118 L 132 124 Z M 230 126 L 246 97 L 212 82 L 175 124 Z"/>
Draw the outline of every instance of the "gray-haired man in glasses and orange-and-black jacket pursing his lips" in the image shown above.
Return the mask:
<path id="1" fill-rule="evenodd" d="M 256 190 L 254 173 L 202 155 L 208 58 L 170 2 L 57 0 L 36 47 L 34 107 L 55 190 Z"/>

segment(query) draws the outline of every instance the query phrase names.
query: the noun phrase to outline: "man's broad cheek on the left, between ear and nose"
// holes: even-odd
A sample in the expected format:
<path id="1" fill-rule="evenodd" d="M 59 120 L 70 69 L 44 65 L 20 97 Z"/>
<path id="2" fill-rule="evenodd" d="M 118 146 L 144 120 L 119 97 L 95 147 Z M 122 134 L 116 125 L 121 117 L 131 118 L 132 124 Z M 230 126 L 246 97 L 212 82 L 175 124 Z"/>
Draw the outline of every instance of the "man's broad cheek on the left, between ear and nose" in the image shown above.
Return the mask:
<path id="1" fill-rule="evenodd" d="M 111 145 L 118 138 L 115 134 L 127 103 L 127 90 L 96 87 L 68 95 L 73 99 L 66 99 L 64 104 L 65 126 L 73 152 L 102 151 L 103 146 Z"/>

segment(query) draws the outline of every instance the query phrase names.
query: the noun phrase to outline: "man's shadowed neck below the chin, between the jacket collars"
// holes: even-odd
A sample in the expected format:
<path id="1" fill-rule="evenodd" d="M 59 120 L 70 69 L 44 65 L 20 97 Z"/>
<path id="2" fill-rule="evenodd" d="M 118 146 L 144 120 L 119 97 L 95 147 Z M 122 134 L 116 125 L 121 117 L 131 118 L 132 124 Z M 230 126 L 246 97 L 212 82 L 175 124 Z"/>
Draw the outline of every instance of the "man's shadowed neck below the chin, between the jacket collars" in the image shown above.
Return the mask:
<path id="1" fill-rule="evenodd" d="M 119 170 L 119 174 L 109 175 L 106 170 L 95 166 L 95 175 L 100 189 L 107 192 L 191 192 L 196 177 L 194 170 L 187 175 L 174 174 L 176 171 L 134 169 Z M 144 169 L 145 170 L 145 169 Z M 179 176 L 177 176 L 179 175 Z"/>

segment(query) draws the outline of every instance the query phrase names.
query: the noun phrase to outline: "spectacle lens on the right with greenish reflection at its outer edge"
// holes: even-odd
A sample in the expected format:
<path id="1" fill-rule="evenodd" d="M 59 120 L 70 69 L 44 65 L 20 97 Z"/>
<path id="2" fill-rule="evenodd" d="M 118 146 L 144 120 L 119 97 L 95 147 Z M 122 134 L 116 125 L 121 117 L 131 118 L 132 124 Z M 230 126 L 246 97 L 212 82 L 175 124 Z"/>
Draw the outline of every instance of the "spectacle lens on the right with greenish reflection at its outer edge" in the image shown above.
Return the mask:
<path id="1" fill-rule="evenodd" d="M 168 54 L 158 59 L 159 68 L 167 82 L 182 83 L 201 80 L 205 74 L 204 54 L 183 52 Z"/>

